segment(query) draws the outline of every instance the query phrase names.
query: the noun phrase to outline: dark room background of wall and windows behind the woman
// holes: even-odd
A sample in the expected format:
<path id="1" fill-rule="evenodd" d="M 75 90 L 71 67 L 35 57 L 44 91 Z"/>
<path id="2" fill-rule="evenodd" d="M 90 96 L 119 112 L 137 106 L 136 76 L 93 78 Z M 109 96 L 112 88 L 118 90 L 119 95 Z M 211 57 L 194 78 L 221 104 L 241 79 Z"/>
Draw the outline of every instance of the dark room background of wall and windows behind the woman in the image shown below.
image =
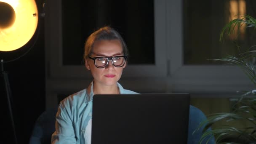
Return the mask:
<path id="1" fill-rule="evenodd" d="M 35 1 L 39 13 L 47 10 L 45 2 L 53 4 L 51 13 L 46 11 L 45 17 L 39 17 L 37 31 L 29 43 L 16 51 L 0 51 L 0 58 L 5 61 L 28 51 L 20 59 L 4 63 L 19 144 L 29 142 L 37 117 L 47 107 L 55 107 L 56 101 L 91 82 L 89 72 L 84 73 L 83 44 L 91 32 L 104 25 L 117 29 L 130 50 L 131 69 L 122 76 L 122 85 L 127 89 L 139 93 L 188 92 L 195 97 L 220 97 L 250 86 L 247 81 L 240 83 L 238 80 L 243 77 L 237 78 L 233 69 L 219 70 L 220 64 L 206 60 L 236 53 L 230 46 L 232 43 L 219 43 L 219 32 L 230 16 L 227 2 L 232 0 Z M 255 17 L 254 0 L 244 1 L 247 13 Z M 3 77 L 0 82 L 5 133 L 0 143 L 12 144 Z M 219 104 L 219 100 L 203 102 L 195 103 L 206 108 L 208 104 Z"/>

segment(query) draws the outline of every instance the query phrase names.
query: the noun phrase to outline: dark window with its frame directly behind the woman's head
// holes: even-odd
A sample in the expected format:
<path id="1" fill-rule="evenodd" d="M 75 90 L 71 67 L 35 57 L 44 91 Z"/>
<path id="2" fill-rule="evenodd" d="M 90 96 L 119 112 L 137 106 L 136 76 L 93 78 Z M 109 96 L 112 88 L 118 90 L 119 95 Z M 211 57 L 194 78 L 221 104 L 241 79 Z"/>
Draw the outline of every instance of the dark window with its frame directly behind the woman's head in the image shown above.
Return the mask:
<path id="1" fill-rule="evenodd" d="M 127 8 L 119 8 L 119 1 L 112 0 L 111 2 L 115 2 L 113 5 L 117 5 L 117 9 L 101 6 L 104 4 L 110 5 L 109 7 L 113 6 L 112 3 L 107 3 L 104 0 L 88 3 L 83 0 L 77 0 L 77 3 L 70 3 L 67 0 L 49 2 L 51 3 L 49 5 L 54 5 L 50 7 L 50 11 L 54 14 L 48 17 L 48 21 L 52 21 L 48 25 L 49 29 L 52 29 L 49 30 L 50 36 L 48 37 L 50 41 L 49 60 L 51 61 L 49 72 L 52 77 L 91 78 L 90 72 L 83 66 L 83 43 L 96 27 L 105 24 L 113 24 L 113 27 L 119 29 L 127 41 L 131 61 L 129 61 L 129 67 L 124 69 L 123 77 L 163 77 L 166 75 L 165 1 L 127 1 L 125 2 L 128 5 Z M 91 7 L 87 10 L 80 7 L 85 4 Z M 91 15 L 84 16 L 85 13 L 93 9 L 93 5 L 99 5 L 99 7 L 94 7 L 97 10 L 92 10 Z M 68 11 L 69 9 L 72 11 Z M 115 14 L 121 11 L 120 9 L 125 9 L 126 11 L 122 12 L 123 15 L 130 16 L 131 19 L 125 18 L 125 16 L 117 20 L 114 19 L 120 17 Z M 133 13 L 131 13 L 131 9 Z M 135 13 L 137 16 L 133 16 Z M 99 19 L 96 19 L 95 15 L 100 15 Z M 84 17 L 85 19 L 82 19 Z M 96 26 L 94 26 L 95 23 Z M 83 24 L 86 26 L 88 24 L 88 27 L 84 27 Z M 130 25 L 131 27 L 129 27 Z M 54 41 L 50 37 L 53 37 Z M 141 38 L 138 40 L 139 38 L 136 37 Z"/>

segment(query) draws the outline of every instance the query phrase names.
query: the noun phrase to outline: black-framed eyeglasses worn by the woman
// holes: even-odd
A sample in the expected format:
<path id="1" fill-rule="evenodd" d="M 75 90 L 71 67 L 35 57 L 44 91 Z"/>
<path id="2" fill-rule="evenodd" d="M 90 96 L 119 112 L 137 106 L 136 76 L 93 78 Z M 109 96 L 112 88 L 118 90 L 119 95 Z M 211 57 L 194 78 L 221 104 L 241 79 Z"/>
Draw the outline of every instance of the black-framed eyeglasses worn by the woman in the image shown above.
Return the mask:
<path id="1" fill-rule="evenodd" d="M 93 59 L 94 64 L 97 68 L 104 68 L 109 63 L 109 60 L 111 60 L 112 64 L 115 67 L 123 67 L 125 64 L 125 60 L 127 56 L 114 56 L 114 57 L 91 57 L 88 56 L 90 59 Z"/>

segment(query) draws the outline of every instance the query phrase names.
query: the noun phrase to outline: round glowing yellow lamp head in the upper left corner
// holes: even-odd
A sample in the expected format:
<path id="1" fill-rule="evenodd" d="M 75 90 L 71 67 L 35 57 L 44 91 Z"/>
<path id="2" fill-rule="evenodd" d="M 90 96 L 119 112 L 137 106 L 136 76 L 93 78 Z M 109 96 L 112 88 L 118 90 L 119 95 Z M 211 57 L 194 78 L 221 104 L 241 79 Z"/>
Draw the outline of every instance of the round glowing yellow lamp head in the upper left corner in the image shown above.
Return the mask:
<path id="1" fill-rule="evenodd" d="M 0 51 L 13 51 L 34 35 L 38 22 L 37 6 L 34 0 L 0 0 L 0 13 L 4 12 L 10 15 L 0 14 Z"/>

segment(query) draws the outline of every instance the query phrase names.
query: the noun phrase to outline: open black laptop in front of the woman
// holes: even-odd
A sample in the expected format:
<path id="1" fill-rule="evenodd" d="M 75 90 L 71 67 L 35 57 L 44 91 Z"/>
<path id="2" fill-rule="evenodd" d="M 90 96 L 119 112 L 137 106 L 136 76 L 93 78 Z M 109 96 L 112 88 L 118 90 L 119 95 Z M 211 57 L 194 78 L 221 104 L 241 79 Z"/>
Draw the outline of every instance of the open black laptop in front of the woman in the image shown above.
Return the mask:
<path id="1" fill-rule="evenodd" d="M 91 144 L 187 144 L 188 93 L 94 95 Z"/>

